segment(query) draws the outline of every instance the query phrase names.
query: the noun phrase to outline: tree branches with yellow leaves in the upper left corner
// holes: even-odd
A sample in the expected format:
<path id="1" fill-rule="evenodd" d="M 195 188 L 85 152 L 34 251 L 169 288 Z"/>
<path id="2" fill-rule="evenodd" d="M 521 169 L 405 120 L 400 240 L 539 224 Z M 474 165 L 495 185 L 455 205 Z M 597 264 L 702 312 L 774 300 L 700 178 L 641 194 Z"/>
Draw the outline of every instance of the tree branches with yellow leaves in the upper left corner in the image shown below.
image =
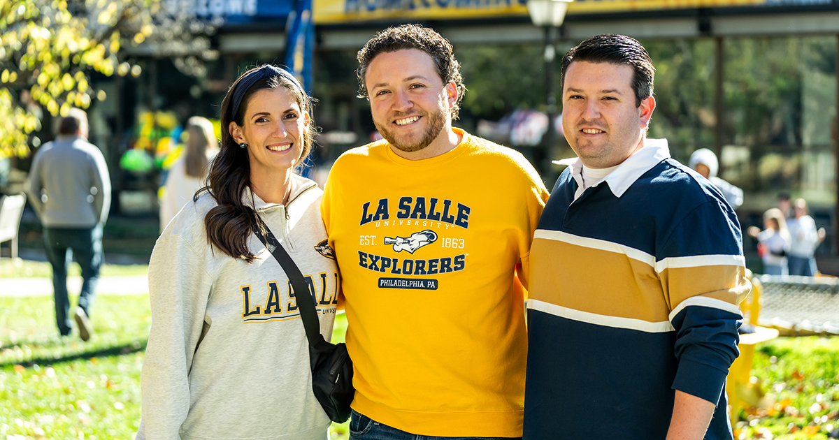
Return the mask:
<path id="1" fill-rule="evenodd" d="M 207 35 L 218 23 L 195 17 L 190 0 L 0 0 L 0 158 L 25 156 L 44 111 L 65 115 L 104 91 L 93 71 L 138 76 L 121 62 L 123 48 L 208 58 Z"/>

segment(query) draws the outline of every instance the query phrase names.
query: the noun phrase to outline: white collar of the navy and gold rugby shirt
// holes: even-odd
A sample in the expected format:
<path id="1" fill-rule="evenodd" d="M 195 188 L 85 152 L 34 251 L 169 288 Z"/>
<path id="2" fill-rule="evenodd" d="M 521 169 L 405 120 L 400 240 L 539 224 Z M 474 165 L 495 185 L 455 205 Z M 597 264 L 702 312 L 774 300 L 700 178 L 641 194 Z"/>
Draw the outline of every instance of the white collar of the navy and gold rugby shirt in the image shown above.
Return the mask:
<path id="1" fill-rule="evenodd" d="M 597 184 L 591 185 L 595 187 L 603 182 L 609 184 L 609 189 L 615 197 L 620 197 L 627 192 L 632 184 L 638 180 L 639 177 L 648 172 L 650 168 L 658 165 L 659 162 L 666 158 L 670 158 L 670 148 L 667 147 L 667 139 L 644 139 L 644 147 L 629 156 L 626 160 L 618 165 L 612 173 L 603 178 Z M 567 158 L 562 160 L 555 160 L 557 165 L 567 165 L 571 168 L 571 176 L 577 184 L 574 199 L 579 199 L 580 195 L 585 190 L 582 182 L 582 161 L 580 158 Z"/>

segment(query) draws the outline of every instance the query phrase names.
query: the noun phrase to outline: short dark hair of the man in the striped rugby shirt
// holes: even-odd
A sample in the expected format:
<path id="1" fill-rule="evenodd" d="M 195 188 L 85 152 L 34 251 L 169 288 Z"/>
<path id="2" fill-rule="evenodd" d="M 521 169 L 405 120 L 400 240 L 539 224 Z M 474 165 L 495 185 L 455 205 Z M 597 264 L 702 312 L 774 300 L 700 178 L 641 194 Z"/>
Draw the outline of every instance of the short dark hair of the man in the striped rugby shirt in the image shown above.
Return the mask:
<path id="1" fill-rule="evenodd" d="M 618 34 L 600 34 L 586 39 L 572 48 L 562 58 L 560 86 L 565 90 L 565 72 L 574 61 L 628 65 L 633 68 L 632 89 L 635 92 L 635 106 L 653 96 L 655 67 L 647 49 L 638 40 Z"/>

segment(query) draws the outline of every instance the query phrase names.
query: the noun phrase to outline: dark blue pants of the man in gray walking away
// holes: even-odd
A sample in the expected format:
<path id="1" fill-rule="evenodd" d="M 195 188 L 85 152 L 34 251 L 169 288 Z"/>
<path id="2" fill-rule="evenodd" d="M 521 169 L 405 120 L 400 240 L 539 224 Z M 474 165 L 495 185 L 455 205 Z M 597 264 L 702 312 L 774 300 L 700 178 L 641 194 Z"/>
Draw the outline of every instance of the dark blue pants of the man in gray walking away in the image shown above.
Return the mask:
<path id="1" fill-rule="evenodd" d="M 67 267 L 75 256 L 83 279 L 79 307 L 90 317 L 96 283 L 99 282 L 99 268 L 104 258 L 102 225 L 81 229 L 44 227 L 44 248 L 53 267 L 55 323 L 61 335 L 66 336 L 72 329 L 70 298 L 67 298 Z"/>

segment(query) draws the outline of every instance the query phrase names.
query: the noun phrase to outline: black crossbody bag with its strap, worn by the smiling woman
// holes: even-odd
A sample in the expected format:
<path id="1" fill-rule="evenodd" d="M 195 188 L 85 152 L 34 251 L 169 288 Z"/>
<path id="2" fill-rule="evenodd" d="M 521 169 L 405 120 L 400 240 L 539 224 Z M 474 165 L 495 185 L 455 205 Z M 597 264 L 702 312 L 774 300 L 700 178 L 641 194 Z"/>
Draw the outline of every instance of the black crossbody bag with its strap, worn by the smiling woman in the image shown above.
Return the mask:
<path id="1" fill-rule="evenodd" d="M 323 335 L 320 334 L 320 320 L 315 311 L 317 300 L 303 279 L 300 268 L 294 264 L 289 252 L 279 244 L 277 238 L 268 229 L 268 225 L 260 221 L 255 212 L 254 216 L 257 217 L 257 227 L 254 228 L 256 236 L 283 267 L 285 274 L 289 277 L 291 287 L 294 288 L 306 339 L 309 339 L 312 391 L 315 391 L 315 397 L 332 422 L 347 422 L 350 417 L 352 397 L 356 393 L 355 388 L 352 387 L 352 360 L 347 353 L 347 345 L 342 342 L 331 344 L 323 339 Z M 263 236 L 262 231 L 259 230 L 260 223 L 265 226 L 267 237 Z"/>

